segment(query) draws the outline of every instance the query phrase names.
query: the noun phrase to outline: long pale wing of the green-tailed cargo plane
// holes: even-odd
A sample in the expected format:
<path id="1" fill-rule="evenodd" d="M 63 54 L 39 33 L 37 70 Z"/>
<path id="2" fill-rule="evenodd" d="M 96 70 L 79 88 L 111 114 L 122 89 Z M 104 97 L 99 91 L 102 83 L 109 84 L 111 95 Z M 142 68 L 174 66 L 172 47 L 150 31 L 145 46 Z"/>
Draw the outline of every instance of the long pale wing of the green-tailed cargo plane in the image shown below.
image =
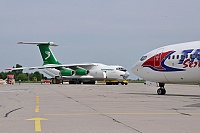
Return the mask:
<path id="1" fill-rule="evenodd" d="M 73 68 L 73 67 L 92 67 L 95 66 L 94 63 L 80 63 L 80 64 L 61 64 L 61 65 L 57 65 L 57 64 L 48 64 L 48 65 L 44 65 L 44 66 L 35 66 L 35 67 L 20 67 L 20 68 L 6 68 L 5 70 L 24 70 L 24 69 L 28 69 L 28 70 L 33 70 L 33 69 L 45 69 L 45 68 L 59 68 L 59 67 L 66 67 L 66 68 Z"/>

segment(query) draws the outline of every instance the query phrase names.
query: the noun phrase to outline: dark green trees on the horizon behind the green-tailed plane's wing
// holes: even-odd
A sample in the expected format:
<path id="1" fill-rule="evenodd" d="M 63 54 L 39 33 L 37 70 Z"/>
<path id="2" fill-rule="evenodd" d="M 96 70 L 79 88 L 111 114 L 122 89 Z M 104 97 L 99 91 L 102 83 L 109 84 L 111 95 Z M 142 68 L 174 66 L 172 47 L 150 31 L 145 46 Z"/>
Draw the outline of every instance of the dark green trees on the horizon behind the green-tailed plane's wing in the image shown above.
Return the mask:
<path id="1" fill-rule="evenodd" d="M 16 64 L 13 68 L 22 67 L 20 64 Z M 7 75 L 12 74 L 15 77 L 15 81 L 41 81 L 41 79 L 47 79 L 42 73 L 39 71 L 35 71 L 34 73 L 23 73 L 23 70 L 15 70 L 8 72 L 1 72 L 0 79 L 6 79 Z"/>

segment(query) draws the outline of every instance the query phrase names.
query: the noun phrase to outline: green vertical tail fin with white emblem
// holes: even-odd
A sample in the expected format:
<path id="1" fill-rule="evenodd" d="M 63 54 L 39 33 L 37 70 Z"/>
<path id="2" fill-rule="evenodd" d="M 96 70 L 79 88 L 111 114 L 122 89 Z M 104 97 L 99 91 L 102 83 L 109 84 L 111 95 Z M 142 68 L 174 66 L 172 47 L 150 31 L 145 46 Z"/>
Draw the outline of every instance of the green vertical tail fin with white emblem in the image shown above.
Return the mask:
<path id="1" fill-rule="evenodd" d="M 43 59 L 43 65 L 61 64 L 60 62 L 57 61 L 51 49 L 49 48 L 50 44 L 38 44 L 37 46 L 40 49 L 40 53 Z"/>

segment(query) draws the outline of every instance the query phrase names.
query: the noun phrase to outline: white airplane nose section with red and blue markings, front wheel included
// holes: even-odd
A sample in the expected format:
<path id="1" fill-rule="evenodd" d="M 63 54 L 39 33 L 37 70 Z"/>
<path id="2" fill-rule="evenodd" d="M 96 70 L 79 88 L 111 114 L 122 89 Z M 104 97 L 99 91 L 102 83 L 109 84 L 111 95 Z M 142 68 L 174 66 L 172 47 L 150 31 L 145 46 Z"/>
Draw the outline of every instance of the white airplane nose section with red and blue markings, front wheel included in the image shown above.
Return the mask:
<path id="1" fill-rule="evenodd" d="M 132 72 L 144 80 L 157 82 L 158 95 L 165 95 L 166 83 L 200 83 L 200 41 L 167 45 L 154 49 L 134 64 Z"/>

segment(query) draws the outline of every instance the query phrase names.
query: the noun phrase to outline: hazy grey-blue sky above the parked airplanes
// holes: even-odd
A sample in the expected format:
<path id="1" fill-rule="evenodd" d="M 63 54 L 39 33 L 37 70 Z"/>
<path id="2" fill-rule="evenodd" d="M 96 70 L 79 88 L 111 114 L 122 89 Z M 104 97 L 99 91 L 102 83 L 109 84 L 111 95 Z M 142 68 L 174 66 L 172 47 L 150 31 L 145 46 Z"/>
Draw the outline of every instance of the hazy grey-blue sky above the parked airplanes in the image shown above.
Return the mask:
<path id="1" fill-rule="evenodd" d="M 161 46 L 200 40 L 199 0 L 1 0 L 0 71 L 42 65 L 38 47 L 49 42 L 63 64 L 132 66 Z"/>

